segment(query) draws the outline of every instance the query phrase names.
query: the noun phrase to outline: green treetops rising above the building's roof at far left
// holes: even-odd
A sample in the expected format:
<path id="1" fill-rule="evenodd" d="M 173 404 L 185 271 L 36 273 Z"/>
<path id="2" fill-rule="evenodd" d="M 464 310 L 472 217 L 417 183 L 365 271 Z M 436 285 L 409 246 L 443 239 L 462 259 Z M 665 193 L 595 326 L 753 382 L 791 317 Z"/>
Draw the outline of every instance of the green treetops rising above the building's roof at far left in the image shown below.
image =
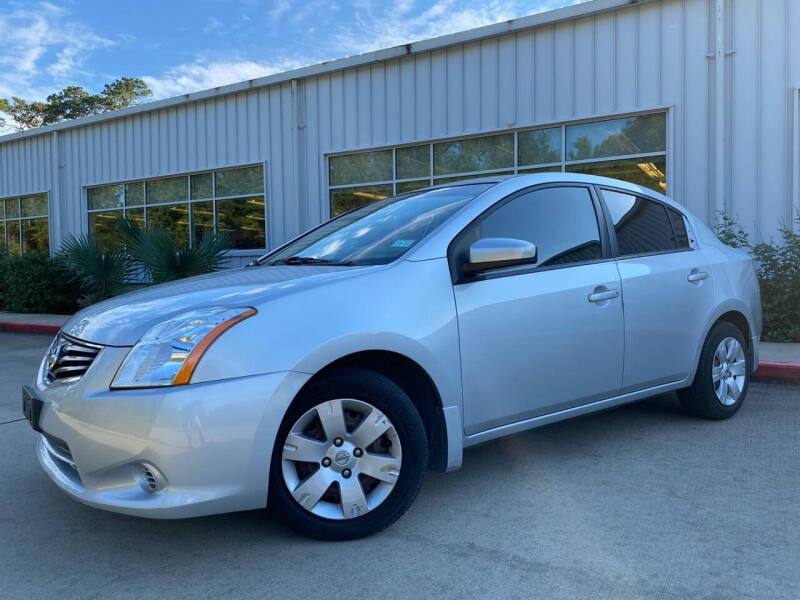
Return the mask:
<path id="1" fill-rule="evenodd" d="M 99 94 L 90 94 L 79 85 L 71 85 L 50 94 L 45 102 L 27 102 L 16 96 L 12 96 L 10 101 L 0 98 L 0 127 L 5 125 L 3 114 L 11 118 L 17 130 L 23 131 L 127 108 L 152 95 L 141 79 L 122 77 L 107 83 Z"/>

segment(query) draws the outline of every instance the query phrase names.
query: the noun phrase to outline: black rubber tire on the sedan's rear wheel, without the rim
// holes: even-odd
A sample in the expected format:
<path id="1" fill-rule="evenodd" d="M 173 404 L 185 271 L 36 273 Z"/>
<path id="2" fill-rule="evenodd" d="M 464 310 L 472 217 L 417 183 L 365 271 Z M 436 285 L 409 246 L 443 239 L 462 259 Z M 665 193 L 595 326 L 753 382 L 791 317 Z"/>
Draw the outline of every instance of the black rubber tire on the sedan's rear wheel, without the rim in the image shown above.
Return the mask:
<path id="1" fill-rule="evenodd" d="M 741 344 L 745 355 L 744 386 L 736 402 L 730 406 L 726 406 L 717 398 L 712 379 L 714 353 L 720 342 L 728 337 L 734 338 Z M 678 390 L 678 398 L 680 399 L 681 405 L 691 414 L 704 419 L 729 419 L 742 407 L 742 403 L 747 396 L 752 366 L 753 353 L 748 350 L 748 345 L 741 330 L 733 323 L 727 321 L 717 323 L 711 328 L 711 331 L 708 332 L 706 341 L 703 344 L 703 350 L 700 352 L 700 362 L 697 365 L 697 373 L 695 374 L 694 382 L 690 387 Z"/>

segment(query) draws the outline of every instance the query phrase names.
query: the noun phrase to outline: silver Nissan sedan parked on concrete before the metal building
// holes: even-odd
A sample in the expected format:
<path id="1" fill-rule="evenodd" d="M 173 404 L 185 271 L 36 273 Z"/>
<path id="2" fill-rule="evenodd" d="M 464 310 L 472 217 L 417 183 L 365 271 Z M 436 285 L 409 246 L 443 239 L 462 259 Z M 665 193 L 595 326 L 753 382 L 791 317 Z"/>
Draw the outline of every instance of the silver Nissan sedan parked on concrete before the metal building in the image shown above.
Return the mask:
<path id="1" fill-rule="evenodd" d="M 23 409 L 53 481 L 156 518 L 269 505 L 378 531 L 464 447 L 669 390 L 725 419 L 758 284 L 669 198 L 592 176 L 357 208 L 256 264 L 116 297 L 53 341 Z"/>

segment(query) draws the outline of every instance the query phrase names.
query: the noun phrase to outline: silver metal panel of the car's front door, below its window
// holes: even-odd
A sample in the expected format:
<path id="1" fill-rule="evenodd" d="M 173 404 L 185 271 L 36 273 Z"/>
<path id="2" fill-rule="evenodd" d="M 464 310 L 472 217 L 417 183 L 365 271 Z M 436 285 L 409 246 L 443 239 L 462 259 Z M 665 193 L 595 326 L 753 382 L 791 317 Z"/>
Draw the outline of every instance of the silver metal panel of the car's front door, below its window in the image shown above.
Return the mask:
<path id="1" fill-rule="evenodd" d="M 623 319 L 613 261 L 455 286 L 467 435 L 619 393 Z"/>

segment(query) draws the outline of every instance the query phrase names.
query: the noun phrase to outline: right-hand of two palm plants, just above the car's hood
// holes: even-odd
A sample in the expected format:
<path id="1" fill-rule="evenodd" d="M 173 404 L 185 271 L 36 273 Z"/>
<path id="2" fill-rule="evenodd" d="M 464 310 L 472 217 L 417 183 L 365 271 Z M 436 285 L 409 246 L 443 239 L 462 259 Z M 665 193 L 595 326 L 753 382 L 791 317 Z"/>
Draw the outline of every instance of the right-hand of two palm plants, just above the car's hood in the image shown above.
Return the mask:
<path id="1" fill-rule="evenodd" d="M 202 275 L 222 268 L 230 248 L 226 234 L 207 235 L 191 248 L 178 244 L 163 229 L 142 229 L 130 219 L 119 219 L 129 257 L 140 264 L 153 283 Z"/>

